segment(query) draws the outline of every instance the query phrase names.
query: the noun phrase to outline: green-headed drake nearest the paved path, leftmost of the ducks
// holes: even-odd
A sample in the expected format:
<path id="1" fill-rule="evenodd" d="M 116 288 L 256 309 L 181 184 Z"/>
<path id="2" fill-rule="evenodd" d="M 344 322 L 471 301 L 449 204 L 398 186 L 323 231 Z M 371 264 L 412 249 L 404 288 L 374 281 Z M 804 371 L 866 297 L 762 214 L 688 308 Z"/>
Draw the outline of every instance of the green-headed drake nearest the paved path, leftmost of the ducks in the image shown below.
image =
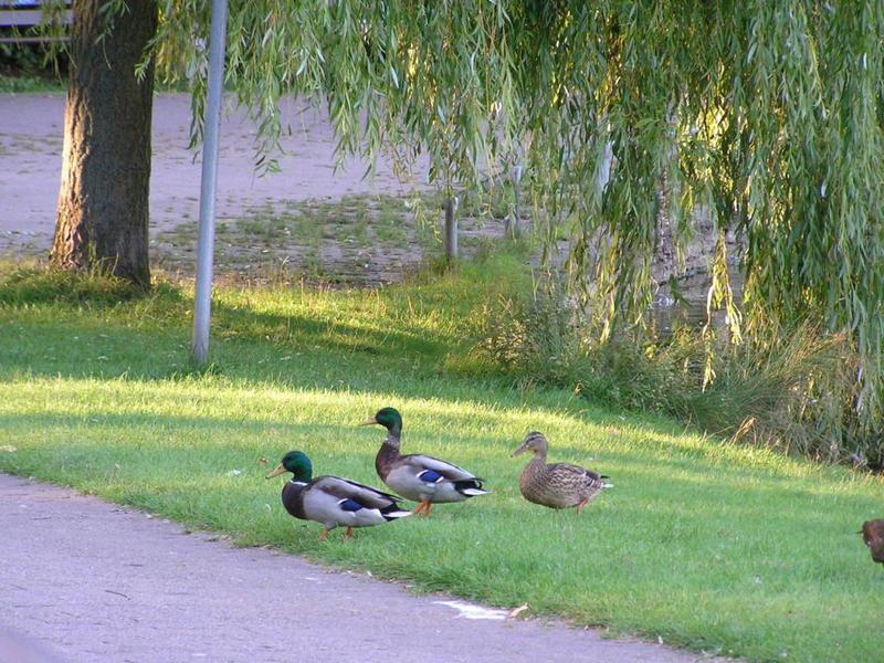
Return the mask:
<path id="1" fill-rule="evenodd" d="M 349 478 L 313 476 L 313 463 L 302 451 L 290 451 L 267 478 L 284 472 L 294 476 L 283 486 L 285 511 L 302 520 L 315 520 L 325 526 L 320 539 L 335 527 L 347 527 L 345 536 L 352 536 L 355 527 L 382 525 L 389 520 L 410 516 L 399 508 L 396 495 L 383 493 Z"/>

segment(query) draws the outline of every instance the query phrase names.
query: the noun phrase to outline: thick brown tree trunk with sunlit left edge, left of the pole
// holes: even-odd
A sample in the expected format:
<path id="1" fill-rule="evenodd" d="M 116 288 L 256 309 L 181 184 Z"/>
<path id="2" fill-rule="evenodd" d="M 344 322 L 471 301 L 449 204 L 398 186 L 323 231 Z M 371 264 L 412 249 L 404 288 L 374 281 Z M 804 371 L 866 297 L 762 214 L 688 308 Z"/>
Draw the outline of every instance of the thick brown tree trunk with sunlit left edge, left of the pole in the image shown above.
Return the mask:
<path id="1" fill-rule="evenodd" d="M 129 0 L 127 10 L 109 19 L 101 13 L 102 4 L 73 3 L 62 183 L 51 260 L 65 269 L 106 266 L 147 286 L 154 64 L 140 81 L 135 67 L 156 34 L 157 2 Z"/>

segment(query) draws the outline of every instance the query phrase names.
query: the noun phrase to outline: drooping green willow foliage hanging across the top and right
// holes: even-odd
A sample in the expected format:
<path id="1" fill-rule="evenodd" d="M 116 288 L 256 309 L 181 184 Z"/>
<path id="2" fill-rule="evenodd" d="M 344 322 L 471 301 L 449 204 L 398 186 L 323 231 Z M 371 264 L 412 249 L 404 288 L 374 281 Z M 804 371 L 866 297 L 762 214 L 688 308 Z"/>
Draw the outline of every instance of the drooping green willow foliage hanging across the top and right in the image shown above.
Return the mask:
<path id="1" fill-rule="evenodd" d="M 159 4 L 159 71 L 196 85 L 199 135 L 210 3 Z M 523 150 L 601 336 L 648 311 L 661 214 L 684 245 L 706 210 L 732 338 L 807 317 L 846 330 L 850 407 L 880 420 L 881 0 L 232 0 L 229 34 L 228 85 L 262 149 L 295 94 L 327 104 L 343 151 L 422 152 L 438 180 L 476 182 Z"/>

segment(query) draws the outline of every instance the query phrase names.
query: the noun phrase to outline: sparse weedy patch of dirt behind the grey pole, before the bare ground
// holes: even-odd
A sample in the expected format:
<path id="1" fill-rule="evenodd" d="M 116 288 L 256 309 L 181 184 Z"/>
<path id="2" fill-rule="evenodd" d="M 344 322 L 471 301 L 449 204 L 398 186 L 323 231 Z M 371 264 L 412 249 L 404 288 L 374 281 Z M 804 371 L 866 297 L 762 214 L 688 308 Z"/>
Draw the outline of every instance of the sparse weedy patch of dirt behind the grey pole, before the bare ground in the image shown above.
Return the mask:
<path id="1" fill-rule="evenodd" d="M 432 194 L 274 201 L 239 218 L 219 218 L 215 265 L 221 274 L 249 278 L 394 283 L 443 255 L 440 208 Z M 151 240 L 155 265 L 192 273 L 197 225 L 193 220 L 156 233 Z M 462 253 L 470 256 L 503 234 L 499 219 L 462 219 Z"/>

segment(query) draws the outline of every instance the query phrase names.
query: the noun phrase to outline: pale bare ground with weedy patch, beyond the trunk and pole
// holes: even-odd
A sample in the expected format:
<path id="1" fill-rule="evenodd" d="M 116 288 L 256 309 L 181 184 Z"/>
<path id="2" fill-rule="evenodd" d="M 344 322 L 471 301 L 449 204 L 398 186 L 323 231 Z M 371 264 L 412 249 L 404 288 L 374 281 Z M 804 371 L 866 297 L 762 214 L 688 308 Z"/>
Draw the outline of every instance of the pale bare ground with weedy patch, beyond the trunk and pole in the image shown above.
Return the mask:
<path id="1" fill-rule="evenodd" d="M 0 95 L 0 254 L 44 256 L 52 244 L 61 180 L 63 94 Z M 217 256 L 221 274 L 307 276 L 343 283 L 389 283 L 442 252 L 441 201 L 419 161 L 404 180 L 380 160 L 372 175 L 359 159 L 337 164 L 327 115 L 287 101 L 280 172 L 255 171 L 255 128 L 229 106 L 221 126 Z M 194 272 L 199 154 L 187 149 L 190 99 L 157 95 L 150 180 L 154 265 Z M 196 157 L 196 158 L 194 158 Z M 414 209 L 415 201 L 423 213 Z M 420 207 L 419 206 L 419 207 Z M 470 255 L 503 234 L 503 220 L 461 220 Z"/>

